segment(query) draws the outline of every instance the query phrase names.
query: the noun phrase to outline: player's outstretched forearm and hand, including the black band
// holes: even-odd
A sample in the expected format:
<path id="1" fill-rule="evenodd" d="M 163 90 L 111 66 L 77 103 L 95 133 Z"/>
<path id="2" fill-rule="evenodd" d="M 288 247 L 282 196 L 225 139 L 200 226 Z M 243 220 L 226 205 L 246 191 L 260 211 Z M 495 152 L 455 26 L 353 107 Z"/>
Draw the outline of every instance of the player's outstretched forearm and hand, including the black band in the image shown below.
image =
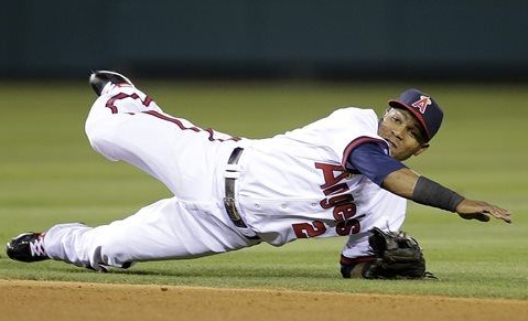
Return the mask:
<path id="1" fill-rule="evenodd" d="M 465 199 L 441 184 L 418 175 L 408 168 L 401 168 L 389 173 L 381 186 L 397 195 L 417 203 L 451 212 L 456 212 L 462 218 L 488 222 L 489 215 L 511 223 L 508 210 L 486 203 Z"/>

